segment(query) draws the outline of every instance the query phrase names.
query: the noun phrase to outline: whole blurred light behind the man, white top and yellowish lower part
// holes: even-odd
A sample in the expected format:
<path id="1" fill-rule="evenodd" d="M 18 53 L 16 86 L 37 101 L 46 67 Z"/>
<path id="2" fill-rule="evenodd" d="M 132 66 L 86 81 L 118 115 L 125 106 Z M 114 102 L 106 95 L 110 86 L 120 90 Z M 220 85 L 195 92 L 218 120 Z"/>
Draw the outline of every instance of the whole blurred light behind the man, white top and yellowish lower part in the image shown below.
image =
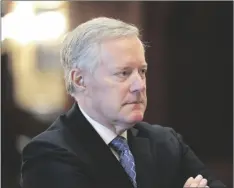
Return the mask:
<path id="1" fill-rule="evenodd" d="M 67 13 L 65 1 L 11 1 L 1 18 L 2 46 L 12 59 L 14 101 L 43 120 L 61 113 L 66 102 L 59 50 L 68 30 Z"/>

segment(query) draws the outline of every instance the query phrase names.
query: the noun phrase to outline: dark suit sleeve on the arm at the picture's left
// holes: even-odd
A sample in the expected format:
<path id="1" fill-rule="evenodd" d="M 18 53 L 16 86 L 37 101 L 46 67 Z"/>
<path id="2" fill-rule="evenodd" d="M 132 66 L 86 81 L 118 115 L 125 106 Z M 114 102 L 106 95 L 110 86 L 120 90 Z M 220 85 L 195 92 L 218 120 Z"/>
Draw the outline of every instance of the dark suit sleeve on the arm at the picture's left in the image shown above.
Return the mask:
<path id="1" fill-rule="evenodd" d="M 63 148 L 32 141 L 23 150 L 22 188 L 93 188 L 84 164 Z"/>

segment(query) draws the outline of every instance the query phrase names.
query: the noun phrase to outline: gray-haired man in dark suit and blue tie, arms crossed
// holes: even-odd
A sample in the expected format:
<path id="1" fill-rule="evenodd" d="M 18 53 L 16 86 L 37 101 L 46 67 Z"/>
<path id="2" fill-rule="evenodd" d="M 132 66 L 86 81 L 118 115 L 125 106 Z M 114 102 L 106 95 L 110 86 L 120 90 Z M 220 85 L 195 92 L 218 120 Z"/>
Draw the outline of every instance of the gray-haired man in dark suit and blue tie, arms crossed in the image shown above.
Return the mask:
<path id="1" fill-rule="evenodd" d="M 24 188 L 225 187 L 171 128 L 142 122 L 144 45 L 136 27 L 100 17 L 61 50 L 76 103 L 22 154 Z"/>

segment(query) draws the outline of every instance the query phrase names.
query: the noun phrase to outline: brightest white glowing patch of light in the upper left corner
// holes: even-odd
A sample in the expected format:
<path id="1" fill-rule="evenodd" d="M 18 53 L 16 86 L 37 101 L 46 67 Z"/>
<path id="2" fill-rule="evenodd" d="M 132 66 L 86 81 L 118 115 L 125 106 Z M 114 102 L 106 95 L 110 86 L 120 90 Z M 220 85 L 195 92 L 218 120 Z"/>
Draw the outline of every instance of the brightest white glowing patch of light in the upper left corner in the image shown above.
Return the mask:
<path id="1" fill-rule="evenodd" d="M 59 11 L 40 10 L 36 14 L 37 5 L 42 7 L 57 7 L 63 2 L 21 1 L 14 2 L 12 12 L 2 18 L 1 40 L 13 39 L 21 44 L 35 41 L 56 40 L 67 29 L 64 14 Z"/>

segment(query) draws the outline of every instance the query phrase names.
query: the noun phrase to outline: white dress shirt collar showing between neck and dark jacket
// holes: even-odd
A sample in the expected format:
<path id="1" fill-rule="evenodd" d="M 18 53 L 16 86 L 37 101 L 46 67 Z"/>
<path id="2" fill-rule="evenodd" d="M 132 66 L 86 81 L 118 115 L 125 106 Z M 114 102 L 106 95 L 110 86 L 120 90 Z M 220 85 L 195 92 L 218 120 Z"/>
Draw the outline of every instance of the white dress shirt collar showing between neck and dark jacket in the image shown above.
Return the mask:
<path id="1" fill-rule="evenodd" d="M 79 106 L 79 105 L 78 105 Z M 101 125 L 97 121 L 93 120 L 88 114 L 84 112 L 84 110 L 79 106 L 80 111 L 85 116 L 85 118 L 88 120 L 88 122 L 93 126 L 93 128 L 97 131 L 97 133 L 100 135 L 100 137 L 104 140 L 104 142 L 109 146 L 110 142 L 117 136 L 115 132 L 108 129 L 104 125 Z M 124 131 L 121 135 L 125 139 L 127 139 L 127 131 Z M 116 156 L 116 158 L 119 160 L 118 154 L 110 147 L 112 153 Z"/>

